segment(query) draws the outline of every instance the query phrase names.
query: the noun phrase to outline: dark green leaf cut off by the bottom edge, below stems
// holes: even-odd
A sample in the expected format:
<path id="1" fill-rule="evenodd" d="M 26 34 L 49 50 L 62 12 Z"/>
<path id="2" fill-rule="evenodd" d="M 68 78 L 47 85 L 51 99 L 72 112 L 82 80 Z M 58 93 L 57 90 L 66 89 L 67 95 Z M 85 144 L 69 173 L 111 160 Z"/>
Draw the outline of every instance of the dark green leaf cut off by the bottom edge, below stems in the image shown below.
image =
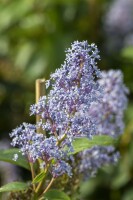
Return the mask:
<path id="1" fill-rule="evenodd" d="M 48 198 L 48 200 L 70 200 L 64 192 L 59 190 L 49 190 L 44 197 Z"/>

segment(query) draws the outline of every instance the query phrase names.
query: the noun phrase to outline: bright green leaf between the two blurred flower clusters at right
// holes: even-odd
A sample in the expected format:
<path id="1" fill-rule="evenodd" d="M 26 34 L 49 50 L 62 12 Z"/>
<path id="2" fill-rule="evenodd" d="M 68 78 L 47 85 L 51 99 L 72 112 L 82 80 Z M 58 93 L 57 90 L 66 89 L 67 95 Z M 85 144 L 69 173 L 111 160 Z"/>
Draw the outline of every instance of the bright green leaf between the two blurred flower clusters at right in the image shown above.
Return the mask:
<path id="1" fill-rule="evenodd" d="M 112 145 L 116 141 L 117 141 L 116 139 L 107 135 L 96 135 L 91 140 L 88 138 L 76 138 L 75 141 L 73 142 L 74 152 L 72 152 L 72 154 L 78 153 L 85 149 L 89 149 L 96 145 L 98 146 Z"/>

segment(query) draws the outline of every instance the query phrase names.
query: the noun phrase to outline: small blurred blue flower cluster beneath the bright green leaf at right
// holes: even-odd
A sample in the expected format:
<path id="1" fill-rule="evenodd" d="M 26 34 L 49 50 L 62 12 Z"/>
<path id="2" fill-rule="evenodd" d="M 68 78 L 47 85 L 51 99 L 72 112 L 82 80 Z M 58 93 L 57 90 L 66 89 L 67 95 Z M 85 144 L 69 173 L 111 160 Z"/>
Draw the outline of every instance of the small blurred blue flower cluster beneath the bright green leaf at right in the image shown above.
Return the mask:
<path id="1" fill-rule="evenodd" d="M 84 178 L 95 176 L 99 168 L 117 163 L 119 157 L 113 146 L 94 146 L 79 153 L 79 171 Z"/>

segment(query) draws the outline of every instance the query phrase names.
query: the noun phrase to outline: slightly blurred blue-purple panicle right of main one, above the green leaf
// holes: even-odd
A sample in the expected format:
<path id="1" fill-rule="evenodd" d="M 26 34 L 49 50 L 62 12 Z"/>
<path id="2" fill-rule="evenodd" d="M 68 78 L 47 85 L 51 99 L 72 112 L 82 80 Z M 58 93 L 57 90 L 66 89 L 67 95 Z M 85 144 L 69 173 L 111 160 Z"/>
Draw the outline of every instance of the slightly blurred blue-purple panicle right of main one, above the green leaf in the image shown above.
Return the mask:
<path id="1" fill-rule="evenodd" d="M 123 74 L 120 70 L 103 71 L 99 84 L 104 88 L 102 102 L 92 103 L 89 115 L 95 116 L 96 134 L 117 137 L 124 130 L 123 115 L 127 106 L 128 89 L 123 84 Z"/>

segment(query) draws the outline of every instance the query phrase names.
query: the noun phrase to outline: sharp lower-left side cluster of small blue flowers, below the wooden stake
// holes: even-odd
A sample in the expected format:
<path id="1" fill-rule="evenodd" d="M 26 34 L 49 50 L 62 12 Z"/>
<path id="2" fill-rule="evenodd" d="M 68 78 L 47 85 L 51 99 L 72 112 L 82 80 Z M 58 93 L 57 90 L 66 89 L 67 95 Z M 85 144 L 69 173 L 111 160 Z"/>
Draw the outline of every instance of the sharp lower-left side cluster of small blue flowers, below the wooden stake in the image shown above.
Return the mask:
<path id="1" fill-rule="evenodd" d="M 48 164 L 51 168 L 49 171 L 54 177 L 63 173 L 71 176 L 71 166 L 65 162 L 68 159 L 67 151 L 57 145 L 58 141 L 54 136 L 46 138 L 45 135 L 36 132 L 35 125 L 23 123 L 10 133 L 10 137 L 11 145 L 18 146 L 29 162 L 34 163 L 37 159 L 41 159 L 43 166 L 40 167 L 43 168 Z M 18 155 L 15 154 L 13 160 L 16 161 L 17 158 Z"/>

